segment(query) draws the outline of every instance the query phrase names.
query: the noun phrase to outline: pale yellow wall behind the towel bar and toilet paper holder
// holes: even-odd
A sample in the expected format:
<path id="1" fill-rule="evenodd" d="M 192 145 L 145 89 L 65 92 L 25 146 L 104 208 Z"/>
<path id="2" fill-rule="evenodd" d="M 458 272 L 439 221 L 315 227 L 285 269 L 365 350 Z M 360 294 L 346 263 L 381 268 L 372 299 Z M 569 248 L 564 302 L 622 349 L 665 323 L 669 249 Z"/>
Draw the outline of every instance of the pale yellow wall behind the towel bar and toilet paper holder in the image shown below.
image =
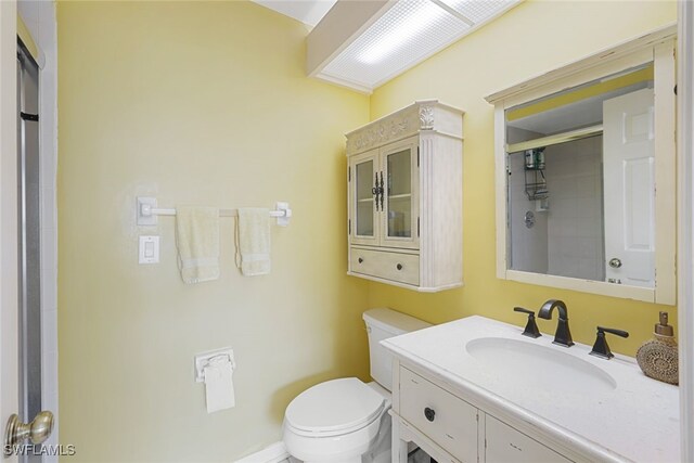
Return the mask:
<path id="1" fill-rule="evenodd" d="M 346 272 L 343 133 L 369 99 L 307 79 L 301 24 L 248 2 L 60 2 L 60 438 L 73 461 L 233 461 L 280 439 L 307 386 L 368 377 L 367 285 Z M 271 207 L 272 273 L 184 285 L 174 218 L 134 197 Z M 138 235 L 162 240 L 139 266 Z M 231 346 L 236 408 L 207 414 L 193 356 Z"/>

